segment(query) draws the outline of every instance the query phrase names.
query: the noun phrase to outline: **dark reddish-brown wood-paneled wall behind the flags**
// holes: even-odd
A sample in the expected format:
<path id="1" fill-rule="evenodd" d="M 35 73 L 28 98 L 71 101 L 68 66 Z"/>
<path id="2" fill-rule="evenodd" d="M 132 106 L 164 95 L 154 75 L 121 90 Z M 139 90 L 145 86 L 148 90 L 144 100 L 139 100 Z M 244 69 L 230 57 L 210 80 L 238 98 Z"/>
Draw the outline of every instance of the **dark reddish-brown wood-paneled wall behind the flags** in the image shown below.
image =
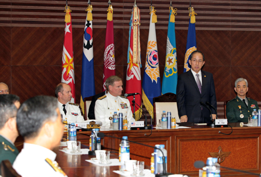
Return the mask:
<path id="1" fill-rule="evenodd" d="M 111 0 L 114 19 L 116 75 L 125 84 L 128 23 L 134 1 Z M 102 91 L 107 0 L 92 1 L 96 93 Z M 141 10 L 142 78 L 149 35 L 151 1 L 139 1 Z M 169 1 L 153 1 L 160 74 L 165 66 Z M 177 8 L 176 43 L 178 74 L 183 73 L 188 33 L 189 0 L 172 2 Z M 261 101 L 261 2 L 192 0 L 196 16 L 197 49 L 205 55 L 203 70 L 213 73 L 218 102 L 235 97 L 234 81 L 248 80 L 247 96 Z M 80 102 L 83 30 L 87 0 L 70 1 L 72 15 L 76 102 Z M 63 1 L 0 0 L 0 82 L 21 101 L 35 95 L 54 95 L 61 81 L 64 40 Z"/>

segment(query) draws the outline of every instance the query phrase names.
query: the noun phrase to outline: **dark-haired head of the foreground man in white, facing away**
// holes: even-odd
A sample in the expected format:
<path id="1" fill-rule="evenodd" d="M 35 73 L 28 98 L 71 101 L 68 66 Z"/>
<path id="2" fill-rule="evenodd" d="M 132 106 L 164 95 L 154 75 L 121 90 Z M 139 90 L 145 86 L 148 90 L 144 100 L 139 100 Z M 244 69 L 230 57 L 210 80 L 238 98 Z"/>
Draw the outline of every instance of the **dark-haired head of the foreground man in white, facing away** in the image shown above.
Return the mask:
<path id="1" fill-rule="evenodd" d="M 26 100 L 18 111 L 17 125 L 25 142 L 48 149 L 57 146 L 63 135 L 63 124 L 56 98 L 40 95 Z"/>

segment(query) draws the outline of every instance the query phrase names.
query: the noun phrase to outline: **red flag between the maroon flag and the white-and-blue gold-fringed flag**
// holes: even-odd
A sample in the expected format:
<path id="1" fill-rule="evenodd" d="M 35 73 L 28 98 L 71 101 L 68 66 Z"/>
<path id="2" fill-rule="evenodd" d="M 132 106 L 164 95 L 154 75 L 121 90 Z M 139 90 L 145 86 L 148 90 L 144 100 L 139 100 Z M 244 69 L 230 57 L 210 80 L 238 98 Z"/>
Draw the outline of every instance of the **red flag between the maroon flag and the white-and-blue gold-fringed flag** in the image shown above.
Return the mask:
<path id="1" fill-rule="evenodd" d="M 130 23 L 132 24 L 132 23 Z M 133 27 L 131 25 L 128 46 L 128 66 L 126 75 L 126 93 L 140 93 L 142 95 L 142 81 L 141 81 L 141 68 L 140 64 L 133 63 Z M 135 102 L 142 106 L 142 98 L 140 95 L 135 96 Z M 131 103 L 132 111 L 134 109 L 134 103 L 132 101 L 134 96 L 129 96 L 128 100 Z M 135 119 L 139 120 L 142 115 L 141 108 L 135 104 Z"/>

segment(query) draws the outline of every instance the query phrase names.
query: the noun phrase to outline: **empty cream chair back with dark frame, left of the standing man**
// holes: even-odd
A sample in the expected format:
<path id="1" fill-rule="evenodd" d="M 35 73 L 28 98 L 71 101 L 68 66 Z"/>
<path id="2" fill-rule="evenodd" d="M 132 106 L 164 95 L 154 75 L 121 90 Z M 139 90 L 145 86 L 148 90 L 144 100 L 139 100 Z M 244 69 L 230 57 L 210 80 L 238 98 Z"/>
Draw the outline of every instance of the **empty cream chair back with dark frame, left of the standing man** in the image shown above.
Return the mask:
<path id="1" fill-rule="evenodd" d="M 174 93 L 165 93 L 161 96 L 153 98 L 154 106 L 154 123 L 157 125 L 159 119 L 161 119 L 161 114 L 163 111 L 171 112 L 171 116 L 176 118 L 176 122 L 180 122 L 178 107 L 177 107 L 177 98 Z"/>

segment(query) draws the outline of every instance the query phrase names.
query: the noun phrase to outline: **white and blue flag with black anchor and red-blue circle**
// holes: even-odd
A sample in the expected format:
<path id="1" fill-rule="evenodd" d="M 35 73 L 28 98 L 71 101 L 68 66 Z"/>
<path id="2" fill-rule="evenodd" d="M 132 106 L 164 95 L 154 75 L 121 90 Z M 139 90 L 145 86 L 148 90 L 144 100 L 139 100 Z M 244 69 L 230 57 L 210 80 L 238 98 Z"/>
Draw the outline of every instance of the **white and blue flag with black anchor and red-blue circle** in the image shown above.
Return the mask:
<path id="1" fill-rule="evenodd" d="M 81 107 L 83 99 L 95 95 L 92 21 L 85 21 L 82 53 Z M 82 109 L 84 110 L 84 109 Z"/>

